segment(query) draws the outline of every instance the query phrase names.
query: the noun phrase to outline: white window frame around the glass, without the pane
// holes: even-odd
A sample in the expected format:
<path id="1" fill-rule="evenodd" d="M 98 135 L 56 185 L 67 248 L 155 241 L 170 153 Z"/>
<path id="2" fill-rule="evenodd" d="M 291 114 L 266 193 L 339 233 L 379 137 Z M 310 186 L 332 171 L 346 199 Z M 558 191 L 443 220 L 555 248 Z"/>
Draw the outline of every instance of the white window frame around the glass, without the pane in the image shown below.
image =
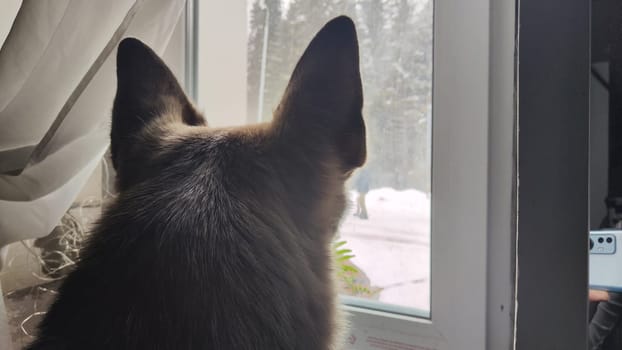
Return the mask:
<path id="1" fill-rule="evenodd" d="M 198 99 L 211 101 L 210 123 L 244 123 L 246 4 L 193 4 L 199 31 L 214 33 L 198 37 Z M 344 306 L 357 338 L 350 349 L 372 349 L 366 337 L 429 349 L 514 346 L 515 7 L 434 1 L 431 318 Z M 234 94 L 215 98 L 210 85 L 223 83 Z"/>

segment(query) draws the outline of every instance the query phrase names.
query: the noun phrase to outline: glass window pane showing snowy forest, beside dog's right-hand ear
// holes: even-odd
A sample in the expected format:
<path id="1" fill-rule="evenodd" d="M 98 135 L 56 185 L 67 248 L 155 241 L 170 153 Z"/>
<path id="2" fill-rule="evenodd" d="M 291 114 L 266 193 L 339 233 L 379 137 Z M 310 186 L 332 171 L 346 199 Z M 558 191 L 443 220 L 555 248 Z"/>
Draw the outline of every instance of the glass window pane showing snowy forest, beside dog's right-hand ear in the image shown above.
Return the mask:
<path id="1" fill-rule="evenodd" d="M 335 242 L 341 292 L 384 303 L 366 305 L 387 309 L 390 304 L 420 316 L 430 308 L 432 5 L 432 0 L 248 4 L 247 107 L 255 121 L 272 117 L 319 28 L 341 14 L 355 21 L 368 161 L 349 182 L 351 206 Z"/>

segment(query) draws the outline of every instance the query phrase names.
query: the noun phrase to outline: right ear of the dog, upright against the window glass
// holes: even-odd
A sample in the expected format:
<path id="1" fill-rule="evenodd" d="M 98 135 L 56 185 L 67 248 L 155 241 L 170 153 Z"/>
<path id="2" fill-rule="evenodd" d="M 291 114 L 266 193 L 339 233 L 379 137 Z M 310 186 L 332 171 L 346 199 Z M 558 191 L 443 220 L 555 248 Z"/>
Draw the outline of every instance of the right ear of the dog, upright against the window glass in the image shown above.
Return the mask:
<path id="1" fill-rule="evenodd" d="M 319 31 L 298 61 L 275 123 L 284 135 L 303 142 L 329 137 L 344 170 L 350 171 L 366 157 L 362 108 L 356 30 L 350 18 L 337 17 Z"/>

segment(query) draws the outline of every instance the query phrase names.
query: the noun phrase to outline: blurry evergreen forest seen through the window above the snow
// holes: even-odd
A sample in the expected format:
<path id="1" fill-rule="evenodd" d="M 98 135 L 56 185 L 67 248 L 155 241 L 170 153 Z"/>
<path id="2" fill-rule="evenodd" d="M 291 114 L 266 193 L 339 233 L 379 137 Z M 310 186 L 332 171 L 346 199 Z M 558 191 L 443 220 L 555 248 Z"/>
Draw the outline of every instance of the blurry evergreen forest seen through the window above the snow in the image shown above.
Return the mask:
<path id="1" fill-rule="evenodd" d="M 430 191 L 432 0 L 254 0 L 248 115 L 272 118 L 313 35 L 347 15 L 357 27 L 371 188 Z"/>

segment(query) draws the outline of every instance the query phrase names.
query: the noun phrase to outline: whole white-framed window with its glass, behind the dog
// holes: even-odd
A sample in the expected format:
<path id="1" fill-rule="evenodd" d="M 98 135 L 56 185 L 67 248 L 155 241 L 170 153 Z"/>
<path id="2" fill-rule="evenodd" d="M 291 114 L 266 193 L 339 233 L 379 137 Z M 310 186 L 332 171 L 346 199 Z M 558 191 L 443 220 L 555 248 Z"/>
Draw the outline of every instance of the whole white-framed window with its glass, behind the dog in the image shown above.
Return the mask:
<path id="1" fill-rule="evenodd" d="M 350 348 L 509 348 L 514 6 L 494 9 L 508 20 L 492 38 L 489 0 L 197 3 L 197 95 L 217 126 L 270 118 L 323 23 L 344 13 L 357 23 L 371 172 L 368 219 L 354 215 L 355 174 L 338 240 L 360 272 L 342 289 Z M 510 137 L 489 139 L 497 129 Z M 487 250 L 489 226 L 501 255 Z"/>

